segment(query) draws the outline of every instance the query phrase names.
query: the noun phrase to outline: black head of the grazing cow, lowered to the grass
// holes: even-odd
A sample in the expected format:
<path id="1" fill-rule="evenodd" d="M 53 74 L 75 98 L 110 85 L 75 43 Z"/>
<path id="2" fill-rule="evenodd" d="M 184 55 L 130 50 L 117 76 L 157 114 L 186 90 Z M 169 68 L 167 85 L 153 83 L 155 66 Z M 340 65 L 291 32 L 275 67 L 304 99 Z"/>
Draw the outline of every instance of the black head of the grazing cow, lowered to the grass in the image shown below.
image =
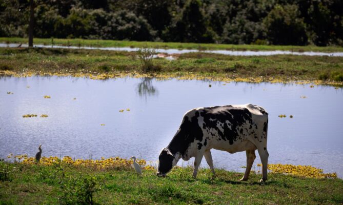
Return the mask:
<path id="1" fill-rule="evenodd" d="M 166 174 L 175 166 L 175 157 L 169 151 L 168 148 L 165 148 L 161 151 L 158 156 L 158 171 L 157 176 L 166 176 Z"/>

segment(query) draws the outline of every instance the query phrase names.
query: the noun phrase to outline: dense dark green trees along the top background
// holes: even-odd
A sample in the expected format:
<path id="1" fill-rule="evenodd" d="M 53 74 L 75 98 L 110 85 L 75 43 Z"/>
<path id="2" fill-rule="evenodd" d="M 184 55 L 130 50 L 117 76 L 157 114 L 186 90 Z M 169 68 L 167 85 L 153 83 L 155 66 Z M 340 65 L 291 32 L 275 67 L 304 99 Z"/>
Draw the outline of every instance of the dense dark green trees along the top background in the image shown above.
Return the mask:
<path id="1" fill-rule="evenodd" d="M 34 36 L 343 45 L 341 0 L 35 0 Z M 0 0 L 0 36 L 27 36 L 28 0 Z"/>

